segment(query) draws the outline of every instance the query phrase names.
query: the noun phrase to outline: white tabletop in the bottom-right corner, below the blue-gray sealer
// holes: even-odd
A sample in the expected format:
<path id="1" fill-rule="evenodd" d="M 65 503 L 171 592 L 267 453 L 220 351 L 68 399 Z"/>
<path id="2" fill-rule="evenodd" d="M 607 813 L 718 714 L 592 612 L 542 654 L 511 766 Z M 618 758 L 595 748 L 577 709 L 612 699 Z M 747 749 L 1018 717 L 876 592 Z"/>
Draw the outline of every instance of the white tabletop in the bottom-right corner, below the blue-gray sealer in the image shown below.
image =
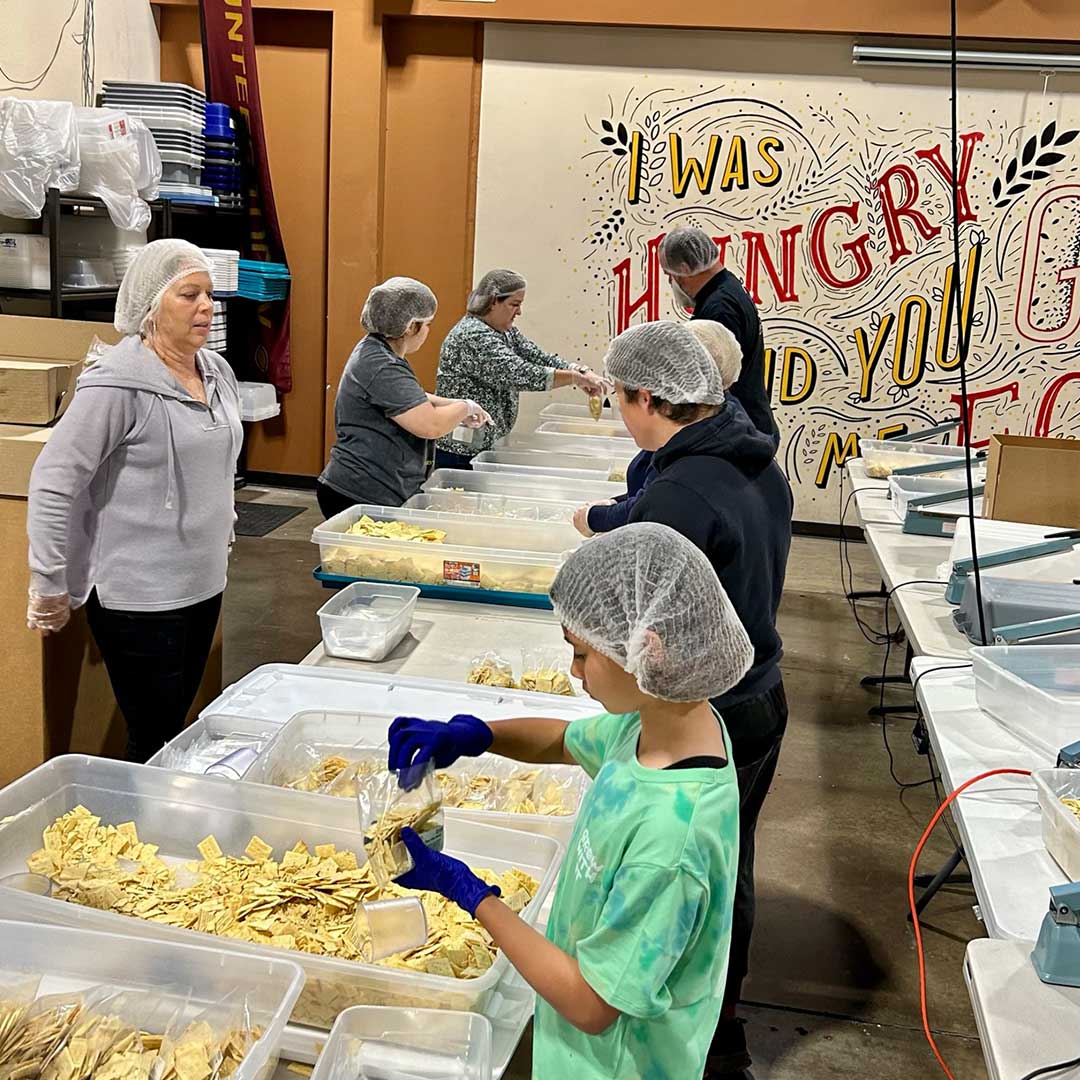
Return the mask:
<path id="1" fill-rule="evenodd" d="M 1080 990 L 1040 982 L 1030 953 L 1030 942 L 968 946 L 963 974 L 990 1080 L 1080 1057 Z M 1080 1068 L 1052 1076 L 1080 1080 Z"/>

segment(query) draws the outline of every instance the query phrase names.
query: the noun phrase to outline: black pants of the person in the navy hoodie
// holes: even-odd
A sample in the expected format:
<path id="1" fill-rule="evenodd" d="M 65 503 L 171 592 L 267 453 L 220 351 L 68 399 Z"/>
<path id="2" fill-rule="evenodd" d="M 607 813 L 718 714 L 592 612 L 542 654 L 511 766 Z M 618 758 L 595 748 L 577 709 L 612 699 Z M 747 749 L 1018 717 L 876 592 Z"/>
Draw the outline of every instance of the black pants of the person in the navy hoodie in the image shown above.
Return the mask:
<path id="1" fill-rule="evenodd" d="M 708 1074 L 737 1072 L 751 1064 L 743 1026 L 735 1017 L 743 980 L 750 970 L 750 941 L 754 931 L 754 833 L 757 819 L 777 773 L 780 744 L 787 728 L 784 684 L 731 708 L 720 710 L 731 735 L 731 754 L 739 775 L 739 873 L 731 920 L 728 982 L 720 1022 L 713 1036 Z"/>

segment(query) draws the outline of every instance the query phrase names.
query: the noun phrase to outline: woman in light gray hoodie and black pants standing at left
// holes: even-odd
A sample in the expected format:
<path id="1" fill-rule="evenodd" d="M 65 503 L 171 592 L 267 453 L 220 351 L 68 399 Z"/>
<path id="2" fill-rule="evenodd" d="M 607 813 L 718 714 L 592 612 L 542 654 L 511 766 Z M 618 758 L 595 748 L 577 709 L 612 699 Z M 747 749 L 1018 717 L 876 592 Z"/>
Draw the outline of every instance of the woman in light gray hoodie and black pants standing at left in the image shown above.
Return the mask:
<path id="1" fill-rule="evenodd" d="M 117 298 L 127 336 L 79 378 L 30 477 L 27 623 L 55 632 L 85 604 L 134 761 L 184 726 L 221 610 L 243 429 L 204 348 L 212 287 L 192 244 L 143 248 Z"/>

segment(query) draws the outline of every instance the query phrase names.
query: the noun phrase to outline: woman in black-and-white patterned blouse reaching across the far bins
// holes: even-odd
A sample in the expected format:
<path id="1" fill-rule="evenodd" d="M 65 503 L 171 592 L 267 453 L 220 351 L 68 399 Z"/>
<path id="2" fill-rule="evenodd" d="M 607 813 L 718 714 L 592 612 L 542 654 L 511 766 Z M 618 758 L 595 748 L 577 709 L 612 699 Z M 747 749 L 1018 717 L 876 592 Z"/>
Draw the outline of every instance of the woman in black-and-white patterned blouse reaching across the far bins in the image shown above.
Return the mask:
<path id="1" fill-rule="evenodd" d="M 468 314 L 446 335 L 438 353 L 435 392 L 469 397 L 491 416 L 474 443 L 453 433 L 435 449 L 435 468 L 469 469 L 472 458 L 508 435 L 517 420 L 523 390 L 579 387 L 591 396 L 604 392 L 604 380 L 588 367 L 568 364 L 544 352 L 514 326 L 525 301 L 525 279 L 513 270 L 490 270 L 469 296 Z"/>

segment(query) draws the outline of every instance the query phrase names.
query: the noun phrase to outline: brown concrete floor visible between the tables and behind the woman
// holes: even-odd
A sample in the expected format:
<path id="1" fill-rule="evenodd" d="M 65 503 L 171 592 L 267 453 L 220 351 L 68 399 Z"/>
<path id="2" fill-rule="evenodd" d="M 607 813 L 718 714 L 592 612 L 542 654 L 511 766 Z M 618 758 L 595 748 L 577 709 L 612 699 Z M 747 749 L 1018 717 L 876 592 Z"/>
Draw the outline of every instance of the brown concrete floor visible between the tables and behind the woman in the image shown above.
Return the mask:
<path id="1" fill-rule="evenodd" d="M 314 508 L 308 492 L 247 488 L 243 499 Z M 311 577 L 318 550 L 308 509 L 264 539 L 241 537 L 225 602 L 225 678 L 258 664 L 300 660 L 316 643 L 326 594 Z M 855 588 L 876 588 L 869 555 L 850 545 Z M 743 1015 L 757 1080 L 932 1077 L 919 1026 L 918 972 L 905 919 L 907 866 L 936 805 L 933 787 L 900 789 L 889 775 L 882 726 L 867 717 L 880 673 L 843 599 L 839 544 L 797 538 L 781 611 L 791 723 L 757 839 L 758 921 Z M 879 602 L 860 606 L 874 626 Z M 893 620 L 895 624 L 895 619 Z M 902 648 L 894 650 L 897 670 Z M 890 691 L 910 702 L 910 689 Z M 912 746 L 913 718 L 887 723 L 895 771 L 929 777 Z M 941 829 L 940 829 L 941 832 Z M 944 832 L 923 854 L 935 869 L 951 851 Z M 986 1070 L 961 973 L 963 951 L 983 936 L 970 887 L 944 890 L 924 916 L 930 1016 L 957 1080 Z M 529 1076 L 527 1044 L 510 1080 Z"/>

